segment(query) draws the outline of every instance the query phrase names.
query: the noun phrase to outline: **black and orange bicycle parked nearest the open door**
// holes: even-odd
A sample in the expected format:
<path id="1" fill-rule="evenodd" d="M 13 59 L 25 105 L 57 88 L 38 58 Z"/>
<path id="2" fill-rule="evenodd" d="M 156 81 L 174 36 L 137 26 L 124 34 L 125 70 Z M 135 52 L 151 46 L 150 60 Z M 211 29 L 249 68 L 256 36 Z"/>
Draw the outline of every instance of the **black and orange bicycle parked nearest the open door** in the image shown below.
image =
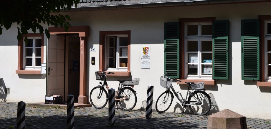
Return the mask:
<path id="1" fill-rule="evenodd" d="M 109 90 L 108 84 L 106 82 L 106 75 L 107 74 L 114 74 L 114 72 L 95 72 L 96 80 L 102 80 L 100 82 L 101 85 L 94 87 L 90 92 L 90 102 L 91 104 L 101 109 L 105 107 L 108 102 L 108 93 L 105 90 Z M 118 108 L 118 104 L 124 110 L 132 110 L 136 105 L 136 95 L 135 90 L 133 90 L 134 85 L 138 85 L 139 80 L 118 80 L 119 86 L 118 90 L 115 93 L 115 102 Z M 121 85 L 120 85 L 121 84 Z"/>

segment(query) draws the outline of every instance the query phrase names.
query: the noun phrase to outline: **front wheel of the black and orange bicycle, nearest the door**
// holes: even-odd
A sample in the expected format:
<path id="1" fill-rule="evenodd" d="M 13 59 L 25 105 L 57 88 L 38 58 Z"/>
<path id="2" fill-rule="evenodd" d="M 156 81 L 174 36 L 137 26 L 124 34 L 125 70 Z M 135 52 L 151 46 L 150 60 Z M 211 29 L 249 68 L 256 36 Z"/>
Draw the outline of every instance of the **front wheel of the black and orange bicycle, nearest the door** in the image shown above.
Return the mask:
<path id="1" fill-rule="evenodd" d="M 107 104 L 108 93 L 105 88 L 100 89 L 100 86 L 97 86 L 91 90 L 89 99 L 94 107 L 101 109 Z"/>

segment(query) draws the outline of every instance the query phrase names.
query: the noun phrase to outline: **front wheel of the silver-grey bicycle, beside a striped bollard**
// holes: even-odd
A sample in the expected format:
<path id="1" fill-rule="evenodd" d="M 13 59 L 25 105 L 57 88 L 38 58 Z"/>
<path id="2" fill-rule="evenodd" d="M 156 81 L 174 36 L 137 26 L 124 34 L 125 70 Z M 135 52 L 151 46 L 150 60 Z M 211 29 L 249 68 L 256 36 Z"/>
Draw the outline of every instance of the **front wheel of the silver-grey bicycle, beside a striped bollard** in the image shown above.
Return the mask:
<path id="1" fill-rule="evenodd" d="M 163 113 L 172 104 L 173 101 L 173 94 L 172 92 L 165 91 L 163 92 L 157 99 L 155 104 L 155 109 L 158 113 Z"/>

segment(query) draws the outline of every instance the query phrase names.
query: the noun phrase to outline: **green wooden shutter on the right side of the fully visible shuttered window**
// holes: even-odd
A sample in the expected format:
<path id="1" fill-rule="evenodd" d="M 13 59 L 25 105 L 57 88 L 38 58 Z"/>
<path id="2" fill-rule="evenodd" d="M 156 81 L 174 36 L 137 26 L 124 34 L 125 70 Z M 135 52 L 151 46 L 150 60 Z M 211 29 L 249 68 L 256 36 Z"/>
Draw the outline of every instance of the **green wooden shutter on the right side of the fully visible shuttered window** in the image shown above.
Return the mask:
<path id="1" fill-rule="evenodd" d="M 229 79 L 229 21 L 212 23 L 213 79 Z"/>

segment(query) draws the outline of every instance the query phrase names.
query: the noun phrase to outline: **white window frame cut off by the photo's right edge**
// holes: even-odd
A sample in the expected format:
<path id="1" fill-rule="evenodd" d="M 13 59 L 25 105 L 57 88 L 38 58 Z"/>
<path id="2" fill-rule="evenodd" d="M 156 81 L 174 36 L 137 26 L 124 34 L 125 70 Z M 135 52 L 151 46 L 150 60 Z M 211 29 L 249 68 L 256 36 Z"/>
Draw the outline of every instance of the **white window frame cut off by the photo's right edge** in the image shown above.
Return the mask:
<path id="1" fill-rule="evenodd" d="M 268 40 L 271 40 L 271 34 L 267 34 L 267 23 L 271 23 L 271 21 L 265 21 L 265 47 L 264 47 L 264 51 L 265 51 L 265 60 L 264 60 L 264 63 L 265 63 L 265 81 L 268 81 L 268 82 L 271 82 L 271 76 L 267 76 L 268 73 L 268 66 L 270 66 L 271 64 L 267 64 L 268 62 L 268 57 L 267 57 L 267 54 L 268 53 L 271 53 L 271 52 L 267 52 L 267 41 Z"/>

